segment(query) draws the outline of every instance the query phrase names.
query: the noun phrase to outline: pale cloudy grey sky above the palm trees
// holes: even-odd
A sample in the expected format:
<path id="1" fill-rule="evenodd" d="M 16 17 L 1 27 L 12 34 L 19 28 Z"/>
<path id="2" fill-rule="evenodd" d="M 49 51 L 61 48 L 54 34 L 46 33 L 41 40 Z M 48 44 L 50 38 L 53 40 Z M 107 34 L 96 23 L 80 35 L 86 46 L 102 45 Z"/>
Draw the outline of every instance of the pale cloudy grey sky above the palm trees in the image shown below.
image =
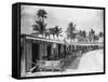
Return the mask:
<path id="1" fill-rule="evenodd" d="M 78 9 L 78 8 L 58 8 L 58 6 L 39 6 L 39 5 L 22 5 L 22 25 L 21 33 L 31 33 L 32 25 L 37 20 L 37 11 L 44 9 L 48 13 L 45 23 L 46 28 L 59 26 L 63 28 L 64 37 L 70 22 L 76 24 L 77 30 L 86 30 L 89 32 L 94 29 L 96 33 L 104 30 L 104 11 L 95 9 Z"/>

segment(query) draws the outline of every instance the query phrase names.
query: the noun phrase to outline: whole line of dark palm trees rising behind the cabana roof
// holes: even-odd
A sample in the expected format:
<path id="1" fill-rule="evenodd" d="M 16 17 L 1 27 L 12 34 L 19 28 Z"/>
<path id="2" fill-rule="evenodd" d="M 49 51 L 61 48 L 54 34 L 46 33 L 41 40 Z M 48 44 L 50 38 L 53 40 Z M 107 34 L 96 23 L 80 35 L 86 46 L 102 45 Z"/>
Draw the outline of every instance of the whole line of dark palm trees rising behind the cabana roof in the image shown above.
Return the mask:
<path id="1" fill-rule="evenodd" d="M 37 12 L 38 19 L 36 20 L 35 25 L 32 25 L 32 29 L 35 32 L 31 35 L 39 36 L 41 35 L 42 38 L 46 38 L 52 35 L 53 39 L 55 39 L 55 36 L 62 37 L 63 29 L 59 26 L 54 26 L 52 28 L 46 28 L 45 18 L 48 18 L 48 12 L 43 9 L 38 10 Z M 104 37 L 104 32 L 100 31 L 98 35 L 95 33 L 94 29 L 91 29 L 89 33 L 85 30 L 77 30 L 76 24 L 70 22 L 68 24 L 68 27 L 66 29 L 67 39 L 70 39 L 70 41 L 75 41 L 78 39 L 78 42 L 94 42 L 98 41 L 99 38 Z"/>

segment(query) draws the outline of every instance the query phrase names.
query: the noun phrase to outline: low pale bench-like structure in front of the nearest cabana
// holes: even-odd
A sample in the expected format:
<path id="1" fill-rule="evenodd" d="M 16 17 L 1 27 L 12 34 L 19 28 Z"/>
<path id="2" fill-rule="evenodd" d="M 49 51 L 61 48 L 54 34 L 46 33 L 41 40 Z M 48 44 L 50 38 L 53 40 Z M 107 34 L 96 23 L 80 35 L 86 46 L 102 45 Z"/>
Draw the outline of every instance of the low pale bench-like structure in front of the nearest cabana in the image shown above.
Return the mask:
<path id="1" fill-rule="evenodd" d="M 32 67 L 29 71 L 31 72 L 33 69 L 38 68 L 39 71 L 54 71 L 54 70 L 62 70 L 63 62 L 62 60 L 37 60 L 37 63 L 27 62 L 30 64 L 33 64 L 35 67 Z"/>

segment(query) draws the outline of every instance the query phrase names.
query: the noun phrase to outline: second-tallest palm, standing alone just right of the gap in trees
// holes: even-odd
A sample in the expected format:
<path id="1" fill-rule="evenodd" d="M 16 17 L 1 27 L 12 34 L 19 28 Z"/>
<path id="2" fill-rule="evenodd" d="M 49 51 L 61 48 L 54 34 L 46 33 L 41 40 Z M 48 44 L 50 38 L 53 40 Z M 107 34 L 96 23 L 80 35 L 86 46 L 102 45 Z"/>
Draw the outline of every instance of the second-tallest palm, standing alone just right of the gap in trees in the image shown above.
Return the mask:
<path id="1" fill-rule="evenodd" d="M 68 38 L 68 39 L 71 39 L 71 40 L 75 39 L 76 36 L 77 36 L 77 33 L 76 33 L 75 31 L 76 31 L 76 24 L 69 23 L 68 28 L 67 28 L 67 30 L 66 30 L 66 32 L 67 32 L 67 38 Z"/>

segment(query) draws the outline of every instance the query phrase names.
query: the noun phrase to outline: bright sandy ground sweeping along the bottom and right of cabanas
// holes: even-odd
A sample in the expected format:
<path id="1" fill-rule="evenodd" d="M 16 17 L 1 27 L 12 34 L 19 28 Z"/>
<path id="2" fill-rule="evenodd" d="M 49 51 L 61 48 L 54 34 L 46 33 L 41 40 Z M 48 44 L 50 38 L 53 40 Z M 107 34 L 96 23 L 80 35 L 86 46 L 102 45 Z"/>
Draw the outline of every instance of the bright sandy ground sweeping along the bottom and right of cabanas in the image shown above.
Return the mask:
<path id="1" fill-rule="evenodd" d="M 82 57 L 75 59 L 65 71 L 57 72 L 36 72 L 26 73 L 25 77 L 37 76 L 56 76 L 56 74 L 73 74 L 73 73 L 89 73 L 89 72 L 103 72 L 104 71 L 104 53 L 103 50 L 91 51 L 83 54 Z"/>

